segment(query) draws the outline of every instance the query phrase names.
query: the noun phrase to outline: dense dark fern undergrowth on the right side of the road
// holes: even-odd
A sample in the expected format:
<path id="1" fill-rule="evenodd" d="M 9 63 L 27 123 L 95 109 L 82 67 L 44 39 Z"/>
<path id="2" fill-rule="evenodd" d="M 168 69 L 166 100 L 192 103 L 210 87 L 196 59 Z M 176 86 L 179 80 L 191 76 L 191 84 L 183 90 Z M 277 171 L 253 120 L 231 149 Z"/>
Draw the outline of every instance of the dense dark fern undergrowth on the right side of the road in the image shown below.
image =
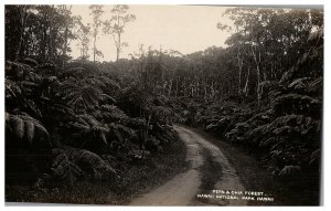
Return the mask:
<path id="1" fill-rule="evenodd" d="M 317 42 L 280 81 L 260 84 L 261 105 L 231 96 L 200 103 L 186 98 L 183 107 L 186 124 L 257 157 L 284 191 L 305 187 L 301 204 L 318 204 L 320 191 L 323 49 L 321 32 L 312 36 Z"/>

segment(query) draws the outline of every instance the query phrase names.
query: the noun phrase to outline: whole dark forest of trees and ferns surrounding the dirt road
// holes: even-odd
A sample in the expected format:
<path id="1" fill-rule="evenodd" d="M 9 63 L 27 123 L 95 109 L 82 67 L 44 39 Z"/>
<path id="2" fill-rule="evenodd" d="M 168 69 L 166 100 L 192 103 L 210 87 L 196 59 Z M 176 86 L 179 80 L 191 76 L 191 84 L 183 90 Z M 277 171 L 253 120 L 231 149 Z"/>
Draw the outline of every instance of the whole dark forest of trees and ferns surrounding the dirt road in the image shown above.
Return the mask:
<path id="1" fill-rule="evenodd" d="M 110 20 L 103 6 L 89 11 L 85 24 L 71 6 L 6 6 L 6 201 L 122 203 L 139 180 L 184 168 L 173 129 L 184 125 L 255 157 L 284 191 L 306 187 L 296 203 L 319 203 L 322 10 L 228 8 L 215 22 L 232 34 L 226 48 L 141 45 L 129 57 L 130 6 Z M 103 34 L 116 61 L 99 61 Z"/>

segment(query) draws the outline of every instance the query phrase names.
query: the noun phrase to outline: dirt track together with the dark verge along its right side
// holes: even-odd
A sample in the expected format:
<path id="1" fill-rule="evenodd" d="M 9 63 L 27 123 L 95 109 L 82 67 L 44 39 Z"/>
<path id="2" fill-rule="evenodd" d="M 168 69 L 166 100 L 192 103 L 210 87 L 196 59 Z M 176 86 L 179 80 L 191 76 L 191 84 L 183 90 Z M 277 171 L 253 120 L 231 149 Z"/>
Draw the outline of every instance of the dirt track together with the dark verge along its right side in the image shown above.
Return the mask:
<path id="1" fill-rule="evenodd" d="M 221 150 L 210 138 L 190 128 L 174 126 L 174 129 L 186 145 L 189 169 L 154 190 L 135 198 L 131 205 L 277 204 L 271 193 L 265 189 L 266 173 L 258 170 L 258 162 L 253 158 L 234 151 L 231 146 L 224 146 Z M 228 157 L 235 162 L 243 160 L 246 166 L 236 170 Z"/>

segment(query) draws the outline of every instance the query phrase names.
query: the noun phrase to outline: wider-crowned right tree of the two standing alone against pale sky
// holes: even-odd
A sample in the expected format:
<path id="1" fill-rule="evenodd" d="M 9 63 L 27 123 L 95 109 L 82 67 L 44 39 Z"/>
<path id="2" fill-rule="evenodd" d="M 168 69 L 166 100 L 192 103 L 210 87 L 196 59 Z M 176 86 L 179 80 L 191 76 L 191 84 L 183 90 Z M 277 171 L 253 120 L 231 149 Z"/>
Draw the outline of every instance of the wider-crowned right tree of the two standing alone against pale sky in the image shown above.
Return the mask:
<path id="1" fill-rule="evenodd" d="M 124 29 L 129 22 L 136 20 L 136 15 L 128 13 L 128 10 L 129 7 L 125 4 L 114 6 L 110 10 L 113 13 L 110 20 L 104 22 L 104 32 L 111 34 L 116 46 L 116 61 L 118 61 L 122 48 L 128 45 L 121 41 L 121 34 L 125 32 Z"/>

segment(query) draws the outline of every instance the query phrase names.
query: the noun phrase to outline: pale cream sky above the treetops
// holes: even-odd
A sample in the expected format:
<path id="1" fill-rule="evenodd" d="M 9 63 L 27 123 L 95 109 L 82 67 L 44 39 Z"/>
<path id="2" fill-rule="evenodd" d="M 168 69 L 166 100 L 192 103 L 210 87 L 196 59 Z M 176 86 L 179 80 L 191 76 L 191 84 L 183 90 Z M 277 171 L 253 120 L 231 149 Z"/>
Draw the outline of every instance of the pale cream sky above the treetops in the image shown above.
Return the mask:
<path id="1" fill-rule="evenodd" d="M 104 20 L 110 18 L 113 6 L 105 6 Z M 217 22 L 231 24 L 222 17 L 225 7 L 217 6 L 129 6 L 129 12 L 136 15 L 125 29 L 122 41 L 128 43 L 120 57 L 139 52 L 143 44 L 147 49 L 177 50 L 183 54 L 204 51 L 209 46 L 225 46 L 224 41 L 229 36 L 216 28 Z M 84 23 L 92 23 L 87 4 L 73 6 L 74 15 L 79 14 Z M 97 49 L 104 53 L 99 61 L 115 61 L 116 48 L 110 35 L 99 33 Z M 71 43 L 72 56 L 79 56 L 77 42 Z M 93 49 L 92 46 L 89 48 Z M 90 52 L 90 59 L 93 57 Z"/>

